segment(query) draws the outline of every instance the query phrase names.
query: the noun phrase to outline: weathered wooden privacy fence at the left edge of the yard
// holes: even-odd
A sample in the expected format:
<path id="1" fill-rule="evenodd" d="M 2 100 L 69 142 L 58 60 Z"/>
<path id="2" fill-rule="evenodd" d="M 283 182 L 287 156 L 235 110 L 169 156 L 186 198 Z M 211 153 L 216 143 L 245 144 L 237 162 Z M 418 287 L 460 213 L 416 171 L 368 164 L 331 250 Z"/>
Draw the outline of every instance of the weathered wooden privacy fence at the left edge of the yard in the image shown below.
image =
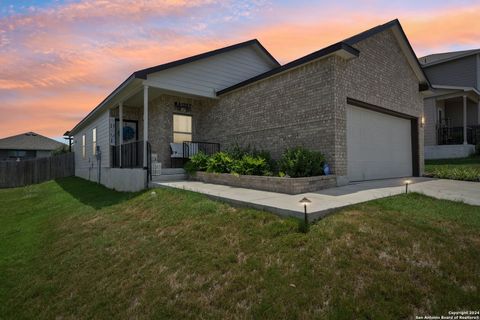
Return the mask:
<path id="1" fill-rule="evenodd" d="M 0 161 L 0 188 L 22 187 L 73 175 L 73 153 L 18 162 Z"/>

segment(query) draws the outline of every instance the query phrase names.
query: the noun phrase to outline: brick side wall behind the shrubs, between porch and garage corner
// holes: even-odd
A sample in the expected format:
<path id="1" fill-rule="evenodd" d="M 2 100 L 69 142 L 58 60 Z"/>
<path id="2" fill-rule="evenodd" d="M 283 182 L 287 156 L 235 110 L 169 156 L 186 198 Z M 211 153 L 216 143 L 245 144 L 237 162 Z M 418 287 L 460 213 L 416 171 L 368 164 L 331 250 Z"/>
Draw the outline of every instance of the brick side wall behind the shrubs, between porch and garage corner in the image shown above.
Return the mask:
<path id="1" fill-rule="evenodd" d="M 203 140 L 268 150 L 321 150 L 334 162 L 332 58 L 290 70 L 220 97 L 201 115 Z"/>

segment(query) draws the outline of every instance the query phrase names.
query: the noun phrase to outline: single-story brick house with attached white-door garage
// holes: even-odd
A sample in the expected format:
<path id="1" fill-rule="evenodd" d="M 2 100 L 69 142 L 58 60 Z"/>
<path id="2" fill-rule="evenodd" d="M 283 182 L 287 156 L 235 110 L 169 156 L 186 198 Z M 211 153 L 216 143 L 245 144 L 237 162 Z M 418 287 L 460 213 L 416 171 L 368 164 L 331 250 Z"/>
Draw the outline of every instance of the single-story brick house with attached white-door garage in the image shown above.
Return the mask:
<path id="1" fill-rule="evenodd" d="M 302 145 L 338 184 L 418 176 L 428 90 L 398 20 L 284 65 L 250 40 L 134 72 L 70 130 L 76 175 L 138 190 L 185 142 L 184 154 L 238 143 L 273 158 Z"/>

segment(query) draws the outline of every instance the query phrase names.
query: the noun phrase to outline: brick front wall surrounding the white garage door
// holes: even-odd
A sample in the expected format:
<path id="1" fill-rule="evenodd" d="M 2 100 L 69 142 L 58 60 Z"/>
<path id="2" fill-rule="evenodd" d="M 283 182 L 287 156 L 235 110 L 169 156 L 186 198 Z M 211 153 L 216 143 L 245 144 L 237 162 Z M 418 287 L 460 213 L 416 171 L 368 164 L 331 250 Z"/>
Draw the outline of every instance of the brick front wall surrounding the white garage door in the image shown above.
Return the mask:
<path id="1" fill-rule="evenodd" d="M 335 58 L 337 175 L 346 175 L 346 98 L 421 118 L 423 96 L 418 79 L 391 30 L 354 46 L 360 56 L 351 61 Z M 423 173 L 423 128 L 418 121 L 420 174 Z"/>

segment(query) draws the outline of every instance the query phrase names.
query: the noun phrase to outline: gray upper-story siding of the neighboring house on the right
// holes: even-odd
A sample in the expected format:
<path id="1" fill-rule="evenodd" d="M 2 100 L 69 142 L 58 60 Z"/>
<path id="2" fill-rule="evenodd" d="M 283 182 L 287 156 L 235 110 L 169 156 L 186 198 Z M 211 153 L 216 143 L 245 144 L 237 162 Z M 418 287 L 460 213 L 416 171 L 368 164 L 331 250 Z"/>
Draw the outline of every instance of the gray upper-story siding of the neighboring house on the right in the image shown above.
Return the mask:
<path id="1" fill-rule="evenodd" d="M 478 88 L 475 55 L 426 67 L 424 70 L 433 85 Z"/>

